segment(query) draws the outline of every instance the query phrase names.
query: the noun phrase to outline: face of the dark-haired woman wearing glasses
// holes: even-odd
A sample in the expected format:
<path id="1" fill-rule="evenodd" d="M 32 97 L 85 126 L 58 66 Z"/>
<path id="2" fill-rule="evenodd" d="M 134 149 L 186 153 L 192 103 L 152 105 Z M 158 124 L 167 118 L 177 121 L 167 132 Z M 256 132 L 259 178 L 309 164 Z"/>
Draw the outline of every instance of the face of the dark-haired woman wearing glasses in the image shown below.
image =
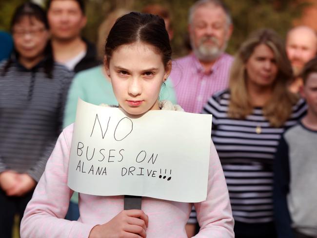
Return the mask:
<path id="1" fill-rule="evenodd" d="M 33 66 L 44 56 L 49 39 L 45 25 L 34 17 L 23 17 L 13 28 L 14 45 L 19 53 L 19 61 Z"/>

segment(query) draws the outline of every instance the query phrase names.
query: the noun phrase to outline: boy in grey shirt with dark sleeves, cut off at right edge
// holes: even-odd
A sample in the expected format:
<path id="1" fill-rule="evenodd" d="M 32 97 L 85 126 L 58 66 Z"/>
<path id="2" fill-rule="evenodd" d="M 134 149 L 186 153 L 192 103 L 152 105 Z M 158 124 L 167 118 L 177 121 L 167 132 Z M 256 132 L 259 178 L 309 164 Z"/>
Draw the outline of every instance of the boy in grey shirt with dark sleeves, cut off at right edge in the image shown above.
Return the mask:
<path id="1" fill-rule="evenodd" d="M 317 58 L 302 72 L 306 116 L 281 137 L 275 158 L 278 238 L 317 237 Z"/>

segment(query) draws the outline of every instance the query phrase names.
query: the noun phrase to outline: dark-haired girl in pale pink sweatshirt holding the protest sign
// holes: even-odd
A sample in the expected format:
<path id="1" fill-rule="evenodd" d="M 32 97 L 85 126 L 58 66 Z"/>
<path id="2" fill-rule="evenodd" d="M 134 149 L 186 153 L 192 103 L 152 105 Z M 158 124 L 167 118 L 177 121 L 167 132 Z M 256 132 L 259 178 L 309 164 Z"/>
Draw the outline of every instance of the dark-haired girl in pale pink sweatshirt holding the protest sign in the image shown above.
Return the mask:
<path id="1" fill-rule="evenodd" d="M 171 71 L 171 47 L 164 20 L 130 13 L 119 18 L 105 45 L 104 65 L 119 107 L 129 115 L 149 110 L 181 110 L 159 101 L 162 83 Z M 60 135 L 45 172 L 28 204 L 21 237 L 185 238 L 192 204 L 142 198 L 142 210 L 123 211 L 123 196 L 79 194 L 80 218 L 64 218 L 73 191 L 67 171 L 73 125 Z M 231 238 L 233 218 L 215 147 L 211 146 L 207 199 L 195 204 L 201 230 L 197 237 Z"/>

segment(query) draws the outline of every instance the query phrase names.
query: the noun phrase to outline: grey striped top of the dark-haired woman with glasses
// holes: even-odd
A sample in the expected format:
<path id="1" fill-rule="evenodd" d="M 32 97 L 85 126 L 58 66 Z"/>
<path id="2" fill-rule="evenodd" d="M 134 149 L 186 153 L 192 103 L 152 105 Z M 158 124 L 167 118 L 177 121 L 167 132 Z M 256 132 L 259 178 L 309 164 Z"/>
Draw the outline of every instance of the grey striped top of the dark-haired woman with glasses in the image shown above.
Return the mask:
<path id="1" fill-rule="evenodd" d="M 54 64 L 52 79 L 43 61 L 28 70 L 13 61 L 2 76 L 0 64 L 0 172 L 27 173 L 38 181 L 62 125 L 73 73 Z"/>

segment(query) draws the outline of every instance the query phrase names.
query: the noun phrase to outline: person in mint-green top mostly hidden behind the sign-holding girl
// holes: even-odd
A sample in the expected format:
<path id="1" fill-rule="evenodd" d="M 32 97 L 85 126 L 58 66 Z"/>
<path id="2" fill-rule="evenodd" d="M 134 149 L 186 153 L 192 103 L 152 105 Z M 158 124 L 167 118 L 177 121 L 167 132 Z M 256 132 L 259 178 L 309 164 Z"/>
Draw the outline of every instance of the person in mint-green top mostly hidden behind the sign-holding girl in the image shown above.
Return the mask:
<path id="1" fill-rule="evenodd" d="M 119 17 L 127 13 L 128 11 L 125 9 L 117 9 L 108 14 L 107 18 L 99 26 L 97 49 L 99 51 L 98 53 L 100 58 L 102 56 L 103 59 L 104 40 L 107 38 L 112 26 Z M 166 85 L 161 88 L 159 98 L 168 99 L 169 101 L 173 103 L 175 102 L 176 104 L 176 96 L 171 80 L 166 80 L 165 84 Z M 99 105 L 100 103 L 107 103 L 110 105 L 118 104 L 113 93 L 110 79 L 107 77 L 103 65 L 81 71 L 74 77 L 68 92 L 63 119 L 63 128 L 70 125 L 71 123 L 74 123 L 76 118 L 78 98 L 96 105 Z M 79 218 L 77 192 L 73 194 L 70 200 L 66 218 L 69 220 L 77 220 Z"/>

